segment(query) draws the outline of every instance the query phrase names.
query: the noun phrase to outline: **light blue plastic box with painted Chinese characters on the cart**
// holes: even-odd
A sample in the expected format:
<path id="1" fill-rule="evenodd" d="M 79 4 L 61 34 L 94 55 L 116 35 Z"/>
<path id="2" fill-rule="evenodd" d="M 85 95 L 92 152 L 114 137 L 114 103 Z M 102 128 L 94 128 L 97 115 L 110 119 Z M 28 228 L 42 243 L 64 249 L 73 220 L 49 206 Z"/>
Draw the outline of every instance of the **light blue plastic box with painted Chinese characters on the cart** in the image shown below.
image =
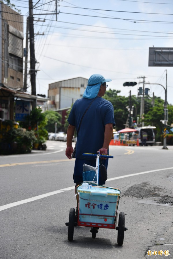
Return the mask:
<path id="1" fill-rule="evenodd" d="M 78 221 L 89 223 L 99 223 L 99 227 L 106 227 L 114 224 L 114 218 L 118 207 L 120 190 L 103 186 L 92 186 L 89 189 L 77 188 L 79 218 Z M 79 223 L 78 222 L 78 223 Z M 83 224 L 87 226 L 87 224 Z M 92 224 L 92 226 L 94 226 Z M 97 225 L 98 226 L 98 225 Z"/>

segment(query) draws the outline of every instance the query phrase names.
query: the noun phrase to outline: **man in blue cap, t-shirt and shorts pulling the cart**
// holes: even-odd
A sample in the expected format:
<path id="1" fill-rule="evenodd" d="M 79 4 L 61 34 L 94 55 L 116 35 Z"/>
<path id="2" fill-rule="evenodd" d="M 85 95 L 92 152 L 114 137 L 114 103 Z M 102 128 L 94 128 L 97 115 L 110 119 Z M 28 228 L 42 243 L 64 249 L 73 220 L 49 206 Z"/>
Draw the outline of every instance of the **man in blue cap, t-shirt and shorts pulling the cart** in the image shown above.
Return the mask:
<path id="1" fill-rule="evenodd" d="M 83 98 L 76 100 L 70 112 L 67 130 L 67 148 L 65 155 L 71 159 L 73 153 L 72 138 L 75 128 L 77 130 L 76 161 L 73 179 L 76 186 L 83 182 L 83 164 L 96 166 L 96 159 L 83 157 L 83 153 L 108 154 L 110 140 L 112 138 L 114 121 L 114 109 L 112 104 L 101 98 L 106 92 L 106 82 L 100 74 L 92 75 L 83 94 Z M 102 164 L 108 167 L 108 159 L 101 159 Z M 105 181 L 99 177 L 99 184 Z M 76 193 L 76 188 L 75 188 Z"/>

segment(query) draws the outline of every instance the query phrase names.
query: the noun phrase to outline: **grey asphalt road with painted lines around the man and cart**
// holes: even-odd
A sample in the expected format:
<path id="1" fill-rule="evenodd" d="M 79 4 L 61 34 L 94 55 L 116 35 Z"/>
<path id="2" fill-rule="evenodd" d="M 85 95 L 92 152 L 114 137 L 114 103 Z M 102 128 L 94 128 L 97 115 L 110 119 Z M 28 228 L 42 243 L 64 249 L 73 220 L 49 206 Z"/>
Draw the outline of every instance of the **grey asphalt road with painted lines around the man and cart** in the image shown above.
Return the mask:
<path id="1" fill-rule="evenodd" d="M 47 146 L 0 156 L 0 258 L 173 258 L 172 147 L 110 146 L 106 186 L 121 190 L 118 212 L 128 228 L 119 247 L 111 229 L 93 239 L 90 228 L 78 226 L 67 240 L 75 159 L 66 159 L 64 142 Z"/>

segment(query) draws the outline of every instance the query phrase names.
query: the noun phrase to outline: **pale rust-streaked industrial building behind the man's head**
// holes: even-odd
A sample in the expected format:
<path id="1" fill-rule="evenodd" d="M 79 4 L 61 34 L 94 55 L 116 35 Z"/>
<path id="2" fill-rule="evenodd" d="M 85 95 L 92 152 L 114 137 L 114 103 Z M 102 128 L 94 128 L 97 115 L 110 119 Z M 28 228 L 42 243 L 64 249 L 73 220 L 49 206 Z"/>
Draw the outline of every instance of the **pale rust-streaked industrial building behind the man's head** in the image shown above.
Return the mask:
<path id="1" fill-rule="evenodd" d="M 88 79 L 76 77 L 49 84 L 48 109 L 57 111 L 72 105 L 81 98 L 87 86 Z"/>

